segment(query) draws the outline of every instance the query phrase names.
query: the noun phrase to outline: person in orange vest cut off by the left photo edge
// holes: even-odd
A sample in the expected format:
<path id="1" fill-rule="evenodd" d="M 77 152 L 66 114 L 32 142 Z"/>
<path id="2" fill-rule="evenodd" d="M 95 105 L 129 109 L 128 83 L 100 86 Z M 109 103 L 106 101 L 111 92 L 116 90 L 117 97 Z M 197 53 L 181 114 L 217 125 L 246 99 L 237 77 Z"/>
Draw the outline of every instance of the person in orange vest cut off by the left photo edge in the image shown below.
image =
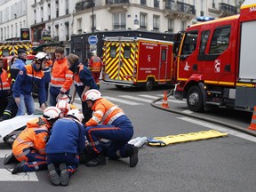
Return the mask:
<path id="1" fill-rule="evenodd" d="M 2 58 L 0 58 L 0 119 L 4 114 L 4 109 L 8 103 L 8 95 L 10 92 L 10 84 L 8 81 L 7 73 L 4 70 L 4 63 Z"/>

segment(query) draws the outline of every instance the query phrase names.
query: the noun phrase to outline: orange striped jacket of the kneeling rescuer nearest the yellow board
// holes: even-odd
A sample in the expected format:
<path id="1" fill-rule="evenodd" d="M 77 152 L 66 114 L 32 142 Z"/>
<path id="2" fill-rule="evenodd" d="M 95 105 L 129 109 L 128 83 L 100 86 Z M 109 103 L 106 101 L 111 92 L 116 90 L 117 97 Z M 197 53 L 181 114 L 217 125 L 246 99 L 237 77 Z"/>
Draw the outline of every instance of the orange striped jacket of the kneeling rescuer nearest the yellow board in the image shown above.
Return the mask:
<path id="1" fill-rule="evenodd" d="M 124 111 L 104 98 L 96 100 L 92 106 L 94 111 L 92 118 L 86 122 L 85 126 L 95 126 L 101 124 L 112 124 L 119 116 L 124 115 Z"/>

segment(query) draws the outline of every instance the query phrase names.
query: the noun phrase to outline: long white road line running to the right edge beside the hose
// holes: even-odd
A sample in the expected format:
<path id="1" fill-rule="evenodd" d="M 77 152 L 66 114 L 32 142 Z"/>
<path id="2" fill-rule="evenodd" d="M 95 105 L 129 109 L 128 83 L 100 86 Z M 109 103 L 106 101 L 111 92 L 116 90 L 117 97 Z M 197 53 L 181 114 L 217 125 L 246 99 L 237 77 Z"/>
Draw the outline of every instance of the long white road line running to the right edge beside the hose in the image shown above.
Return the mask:
<path id="1" fill-rule="evenodd" d="M 234 130 L 230 130 L 230 129 L 221 127 L 220 125 L 209 124 L 209 123 L 205 123 L 203 121 L 188 118 L 188 117 L 177 117 L 177 118 L 179 118 L 183 121 L 187 121 L 187 122 L 192 123 L 192 124 L 198 124 L 198 125 L 201 125 L 201 126 L 205 126 L 207 128 L 214 129 L 214 130 L 217 130 L 219 132 L 227 132 L 230 135 L 234 135 L 234 136 L 242 138 L 244 140 L 251 140 L 252 142 L 256 142 L 256 137 L 254 137 L 252 135 L 249 135 L 249 134 L 246 134 L 244 132 L 236 132 Z"/>

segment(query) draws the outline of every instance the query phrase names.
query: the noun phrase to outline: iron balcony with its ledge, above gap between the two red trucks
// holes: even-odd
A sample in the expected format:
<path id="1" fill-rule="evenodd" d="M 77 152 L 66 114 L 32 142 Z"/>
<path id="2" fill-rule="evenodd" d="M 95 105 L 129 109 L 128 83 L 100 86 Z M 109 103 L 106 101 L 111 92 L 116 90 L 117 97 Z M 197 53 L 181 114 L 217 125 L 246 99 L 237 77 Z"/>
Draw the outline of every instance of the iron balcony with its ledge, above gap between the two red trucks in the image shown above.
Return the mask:
<path id="1" fill-rule="evenodd" d="M 165 16 L 173 15 L 173 16 L 184 16 L 192 18 L 196 16 L 195 6 L 192 4 L 185 4 L 182 2 L 174 2 L 173 0 L 165 1 Z"/>

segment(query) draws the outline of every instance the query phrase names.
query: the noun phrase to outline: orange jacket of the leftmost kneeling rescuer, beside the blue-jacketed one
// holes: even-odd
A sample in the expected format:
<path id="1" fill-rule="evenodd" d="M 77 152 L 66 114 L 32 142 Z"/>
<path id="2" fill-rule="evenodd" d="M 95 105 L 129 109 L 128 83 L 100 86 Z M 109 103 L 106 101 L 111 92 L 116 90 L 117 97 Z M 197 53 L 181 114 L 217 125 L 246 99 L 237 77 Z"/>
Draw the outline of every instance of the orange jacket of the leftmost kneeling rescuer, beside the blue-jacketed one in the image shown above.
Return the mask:
<path id="1" fill-rule="evenodd" d="M 26 160 L 29 150 L 26 148 L 35 149 L 37 153 L 45 155 L 45 146 L 49 137 L 50 124 L 44 120 L 44 117 L 37 117 L 28 121 L 25 130 L 20 132 L 20 135 L 12 144 L 12 153 L 19 160 Z"/>

